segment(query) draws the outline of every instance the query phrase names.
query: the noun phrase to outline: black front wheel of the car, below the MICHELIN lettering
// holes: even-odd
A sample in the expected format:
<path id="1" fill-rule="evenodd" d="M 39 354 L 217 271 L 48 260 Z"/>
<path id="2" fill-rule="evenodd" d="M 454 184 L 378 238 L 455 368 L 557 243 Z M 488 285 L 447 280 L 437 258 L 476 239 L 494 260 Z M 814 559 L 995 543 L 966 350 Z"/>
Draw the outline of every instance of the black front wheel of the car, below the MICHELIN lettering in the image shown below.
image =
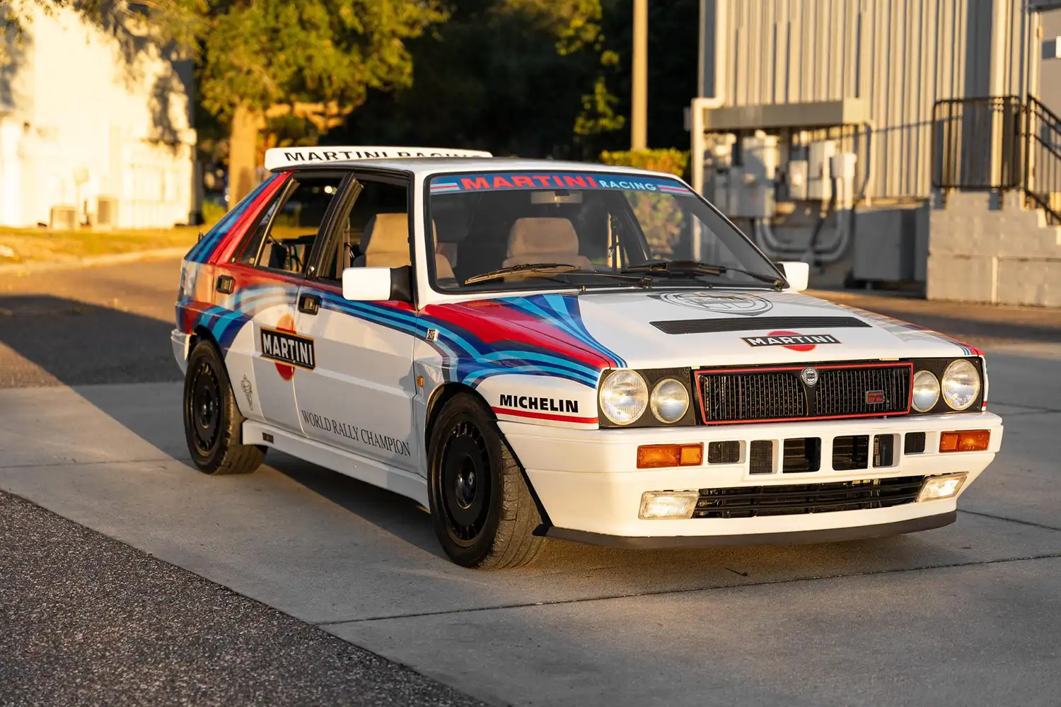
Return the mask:
<path id="1" fill-rule="evenodd" d="M 543 538 L 523 473 L 486 407 L 471 395 L 446 404 L 428 445 L 428 497 L 435 534 L 465 567 L 519 567 Z"/>

